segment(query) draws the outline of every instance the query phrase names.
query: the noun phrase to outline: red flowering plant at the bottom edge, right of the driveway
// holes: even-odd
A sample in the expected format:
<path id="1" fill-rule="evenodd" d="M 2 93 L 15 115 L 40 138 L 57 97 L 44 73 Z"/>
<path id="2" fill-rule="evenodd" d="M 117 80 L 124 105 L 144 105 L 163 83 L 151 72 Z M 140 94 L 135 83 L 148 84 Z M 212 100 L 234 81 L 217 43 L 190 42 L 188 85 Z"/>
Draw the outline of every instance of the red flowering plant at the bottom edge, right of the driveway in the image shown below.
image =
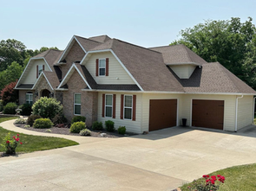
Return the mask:
<path id="1" fill-rule="evenodd" d="M 211 177 L 209 175 L 203 175 L 202 177 L 205 181 L 193 181 L 193 184 L 187 188 L 189 188 L 189 190 L 197 191 L 215 191 L 220 188 L 220 183 L 224 183 L 225 181 L 225 177 L 223 175 L 212 175 Z M 219 181 L 219 183 L 216 183 L 216 181 Z"/>

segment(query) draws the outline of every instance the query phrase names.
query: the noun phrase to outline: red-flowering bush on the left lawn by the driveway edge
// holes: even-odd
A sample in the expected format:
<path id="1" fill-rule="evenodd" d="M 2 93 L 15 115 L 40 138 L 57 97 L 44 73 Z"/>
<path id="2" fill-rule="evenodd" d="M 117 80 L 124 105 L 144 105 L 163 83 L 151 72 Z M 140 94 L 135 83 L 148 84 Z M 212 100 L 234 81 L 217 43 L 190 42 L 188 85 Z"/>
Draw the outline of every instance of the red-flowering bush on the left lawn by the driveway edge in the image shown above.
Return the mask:
<path id="1" fill-rule="evenodd" d="M 9 132 L 7 136 L 3 138 L 1 146 L 5 149 L 6 154 L 15 154 L 18 143 L 23 144 L 20 142 L 19 134 L 11 138 Z"/>

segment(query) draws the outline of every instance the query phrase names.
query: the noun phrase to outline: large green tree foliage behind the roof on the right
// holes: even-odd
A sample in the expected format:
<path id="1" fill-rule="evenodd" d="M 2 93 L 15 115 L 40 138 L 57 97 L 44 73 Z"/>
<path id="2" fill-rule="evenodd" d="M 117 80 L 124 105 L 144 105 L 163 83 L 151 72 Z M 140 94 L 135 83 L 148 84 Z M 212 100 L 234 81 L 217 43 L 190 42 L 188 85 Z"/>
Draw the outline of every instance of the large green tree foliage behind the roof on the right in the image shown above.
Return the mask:
<path id="1" fill-rule="evenodd" d="M 170 45 L 184 44 L 208 62 L 224 67 L 256 89 L 256 28 L 253 19 L 240 22 L 208 20 L 194 28 L 181 30 L 181 39 Z"/>

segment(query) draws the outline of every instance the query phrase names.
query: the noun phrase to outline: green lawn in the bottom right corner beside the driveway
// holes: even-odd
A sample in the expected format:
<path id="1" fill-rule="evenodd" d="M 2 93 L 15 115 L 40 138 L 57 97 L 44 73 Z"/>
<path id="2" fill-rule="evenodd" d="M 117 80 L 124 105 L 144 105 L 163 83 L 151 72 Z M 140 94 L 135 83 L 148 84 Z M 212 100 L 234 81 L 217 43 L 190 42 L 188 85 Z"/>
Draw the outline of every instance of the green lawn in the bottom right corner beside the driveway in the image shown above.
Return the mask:
<path id="1" fill-rule="evenodd" d="M 225 176 L 226 181 L 220 186 L 220 191 L 256 190 L 256 163 L 221 169 L 213 172 L 211 175 Z M 181 190 L 189 190 L 187 189 L 189 184 L 183 185 Z"/>

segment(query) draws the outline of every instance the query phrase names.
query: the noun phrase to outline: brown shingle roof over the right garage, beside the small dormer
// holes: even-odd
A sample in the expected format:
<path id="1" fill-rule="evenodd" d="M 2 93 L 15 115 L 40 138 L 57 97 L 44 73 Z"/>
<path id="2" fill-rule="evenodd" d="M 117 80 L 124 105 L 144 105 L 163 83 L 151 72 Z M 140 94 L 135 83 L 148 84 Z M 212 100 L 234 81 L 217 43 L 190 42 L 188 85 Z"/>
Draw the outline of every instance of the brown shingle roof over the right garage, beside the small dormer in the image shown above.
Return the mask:
<path id="1" fill-rule="evenodd" d="M 184 86 L 185 92 L 256 93 L 219 62 L 197 67 L 189 79 L 179 79 L 174 72 L 172 73 Z"/>

